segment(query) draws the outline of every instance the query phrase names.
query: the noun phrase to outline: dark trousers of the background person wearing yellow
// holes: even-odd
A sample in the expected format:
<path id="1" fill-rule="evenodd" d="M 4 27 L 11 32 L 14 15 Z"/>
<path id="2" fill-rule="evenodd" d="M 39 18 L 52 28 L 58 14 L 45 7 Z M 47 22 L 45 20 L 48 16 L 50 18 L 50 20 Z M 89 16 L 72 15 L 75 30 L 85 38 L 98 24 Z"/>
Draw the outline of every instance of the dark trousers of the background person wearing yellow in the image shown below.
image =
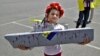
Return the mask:
<path id="1" fill-rule="evenodd" d="M 82 28 L 86 27 L 87 20 L 89 18 L 89 12 L 90 12 L 89 7 L 85 7 L 84 11 L 79 12 L 79 18 L 78 18 L 78 21 L 76 23 L 76 28 L 78 28 L 81 25 L 81 23 L 82 23 L 82 26 L 81 26 Z"/>

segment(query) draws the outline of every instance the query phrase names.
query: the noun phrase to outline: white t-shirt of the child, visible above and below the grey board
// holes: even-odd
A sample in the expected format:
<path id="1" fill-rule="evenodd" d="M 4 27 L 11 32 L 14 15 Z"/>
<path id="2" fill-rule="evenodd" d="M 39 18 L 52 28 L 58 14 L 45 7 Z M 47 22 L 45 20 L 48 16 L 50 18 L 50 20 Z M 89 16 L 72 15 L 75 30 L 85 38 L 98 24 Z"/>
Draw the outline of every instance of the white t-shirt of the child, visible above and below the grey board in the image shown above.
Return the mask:
<path id="1" fill-rule="evenodd" d="M 57 24 L 54 25 L 54 30 L 64 30 L 64 26 Z M 54 45 L 54 46 L 45 46 L 44 53 L 47 55 L 55 55 L 61 52 L 61 46 L 60 45 Z"/>

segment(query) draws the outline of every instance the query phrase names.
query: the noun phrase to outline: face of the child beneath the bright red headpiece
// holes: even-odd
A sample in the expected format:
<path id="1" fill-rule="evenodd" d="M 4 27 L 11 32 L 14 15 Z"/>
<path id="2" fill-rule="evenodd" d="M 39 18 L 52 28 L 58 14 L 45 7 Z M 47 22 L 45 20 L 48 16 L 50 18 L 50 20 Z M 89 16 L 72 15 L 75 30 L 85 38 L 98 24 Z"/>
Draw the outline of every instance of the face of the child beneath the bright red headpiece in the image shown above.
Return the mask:
<path id="1" fill-rule="evenodd" d="M 47 16 L 47 21 L 50 23 L 57 23 L 59 20 L 60 12 L 56 9 L 52 9 Z"/>

